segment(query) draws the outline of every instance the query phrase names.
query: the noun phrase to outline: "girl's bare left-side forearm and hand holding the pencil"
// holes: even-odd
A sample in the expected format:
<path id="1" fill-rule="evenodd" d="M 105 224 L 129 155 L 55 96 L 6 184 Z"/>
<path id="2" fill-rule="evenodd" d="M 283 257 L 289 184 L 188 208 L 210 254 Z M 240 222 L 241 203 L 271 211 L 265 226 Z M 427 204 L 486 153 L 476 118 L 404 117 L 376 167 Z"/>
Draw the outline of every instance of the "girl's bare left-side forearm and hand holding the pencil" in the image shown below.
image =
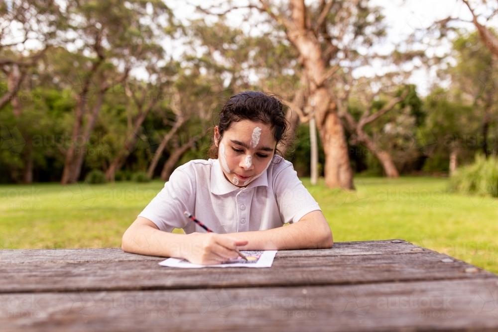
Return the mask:
<path id="1" fill-rule="evenodd" d="M 174 234 L 159 230 L 147 218 L 138 217 L 124 232 L 123 251 L 142 255 L 186 258 L 196 264 L 219 264 L 237 258 L 237 247 L 247 240 L 229 234 Z"/>

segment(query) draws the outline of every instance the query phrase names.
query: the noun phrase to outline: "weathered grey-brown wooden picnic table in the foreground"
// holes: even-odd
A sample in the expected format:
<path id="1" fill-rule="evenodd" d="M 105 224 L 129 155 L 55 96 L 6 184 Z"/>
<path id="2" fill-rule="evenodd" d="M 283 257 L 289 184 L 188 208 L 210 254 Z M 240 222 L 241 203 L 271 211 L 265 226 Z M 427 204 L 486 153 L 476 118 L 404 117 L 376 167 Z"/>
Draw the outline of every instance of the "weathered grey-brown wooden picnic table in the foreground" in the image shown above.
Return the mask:
<path id="1" fill-rule="evenodd" d="M 0 250 L 0 331 L 498 331 L 498 276 L 404 240 L 179 269 L 109 249 Z"/>

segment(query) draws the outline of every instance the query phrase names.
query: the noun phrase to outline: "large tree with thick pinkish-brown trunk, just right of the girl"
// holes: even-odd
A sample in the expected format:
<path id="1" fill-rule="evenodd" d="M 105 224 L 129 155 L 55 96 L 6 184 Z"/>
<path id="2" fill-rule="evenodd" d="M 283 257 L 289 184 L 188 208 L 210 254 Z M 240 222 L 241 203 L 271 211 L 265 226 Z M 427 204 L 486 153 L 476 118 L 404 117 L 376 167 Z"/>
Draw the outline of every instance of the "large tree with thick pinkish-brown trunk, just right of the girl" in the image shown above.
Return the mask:
<path id="1" fill-rule="evenodd" d="M 269 19 L 264 23 L 275 28 L 273 36 L 289 42 L 299 54 L 309 98 L 315 101 L 315 118 L 326 155 L 327 186 L 353 188 L 344 129 L 329 79 L 341 68 L 341 62 L 347 62 L 349 53 L 371 46 L 373 39 L 383 33 L 381 15 L 366 1 L 353 0 L 322 0 L 309 6 L 304 0 L 289 0 L 288 5 L 282 3 L 279 7 L 260 0 L 247 7 L 267 15 Z"/>

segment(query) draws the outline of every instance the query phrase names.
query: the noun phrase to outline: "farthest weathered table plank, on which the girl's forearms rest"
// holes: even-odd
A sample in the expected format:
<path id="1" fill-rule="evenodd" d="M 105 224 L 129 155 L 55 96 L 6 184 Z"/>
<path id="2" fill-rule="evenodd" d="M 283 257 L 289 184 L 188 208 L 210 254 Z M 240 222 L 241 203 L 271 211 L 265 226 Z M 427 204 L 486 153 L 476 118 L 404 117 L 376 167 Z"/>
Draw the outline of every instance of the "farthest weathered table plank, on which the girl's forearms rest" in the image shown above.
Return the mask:
<path id="1" fill-rule="evenodd" d="M 400 240 L 336 242 L 331 249 L 282 250 L 276 257 L 309 257 L 309 256 L 351 256 L 381 255 L 394 253 L 419 253 L 430 251 L 410 242 Z M 415 249 L 415 250 L 414 250 Z M 106 249 L 6 249 L 0 250 L 0 264 L 35 263 L 35 262 L 121 262 L 135 260 L 157 260 L 163 258 L 136 255 L 123 252 L 121 248 Z"/>

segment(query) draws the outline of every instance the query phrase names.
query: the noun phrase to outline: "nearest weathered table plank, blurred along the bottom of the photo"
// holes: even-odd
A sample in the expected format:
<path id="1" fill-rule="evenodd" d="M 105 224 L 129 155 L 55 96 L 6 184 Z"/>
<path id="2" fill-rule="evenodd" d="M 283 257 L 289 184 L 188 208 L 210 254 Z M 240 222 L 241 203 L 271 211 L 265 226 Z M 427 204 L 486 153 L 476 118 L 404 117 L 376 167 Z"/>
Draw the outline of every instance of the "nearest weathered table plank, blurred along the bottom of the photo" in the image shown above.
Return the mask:
<path id="1" fill-rule="evenodd" d="M 497 278 L 0 295 L 2 331 L 498 331 Z"/>

